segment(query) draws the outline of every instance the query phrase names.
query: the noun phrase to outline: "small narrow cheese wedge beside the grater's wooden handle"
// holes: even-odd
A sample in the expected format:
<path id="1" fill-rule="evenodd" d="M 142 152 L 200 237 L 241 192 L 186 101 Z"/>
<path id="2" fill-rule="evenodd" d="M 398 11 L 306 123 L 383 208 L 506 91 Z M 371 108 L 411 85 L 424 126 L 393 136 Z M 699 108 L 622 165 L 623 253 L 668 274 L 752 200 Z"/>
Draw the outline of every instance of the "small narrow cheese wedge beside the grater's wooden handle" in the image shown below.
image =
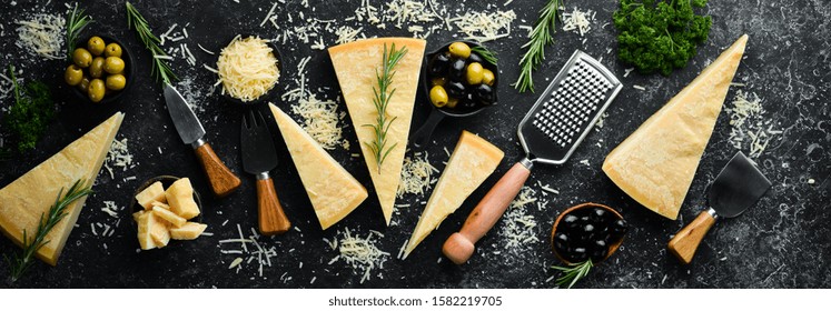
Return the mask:
<path id="1" fill-rule="evenodd" d="M 467 131 L 462 132 L 462 138 L 438 179 L 436 190 L 431 194 L 422 218 L 409 237 L 404 258 L 407 258 L 427 234 L 438 228 L 447 215 L 462 205 L 465 199 L 496 170 L 504 156 L 502 150 L 486 140 Z"/>

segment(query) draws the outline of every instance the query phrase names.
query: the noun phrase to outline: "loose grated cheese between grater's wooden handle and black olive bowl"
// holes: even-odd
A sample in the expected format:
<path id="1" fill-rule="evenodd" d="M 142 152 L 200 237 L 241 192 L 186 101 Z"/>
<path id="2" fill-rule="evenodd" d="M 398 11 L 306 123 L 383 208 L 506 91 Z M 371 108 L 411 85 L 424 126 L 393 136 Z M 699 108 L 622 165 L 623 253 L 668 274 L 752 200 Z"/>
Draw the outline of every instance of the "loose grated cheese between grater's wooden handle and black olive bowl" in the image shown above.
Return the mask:
<path id="1" fill-rule="evenodd" d="M 536 232 L 536 219 L 527 213 L 527 207 L 536 203 L 542 209 L 547 202 L 538 200 L 536 191 L 525 185 L 520 191 L 520 195 L 511 202 L 511 205 L 503 217 L 503 224 L 499 229 L 499 237 L 504 238 L 504 248 L 513 254 L 518 254 L 518 250 L 527 249 L 530 243 L 540 242 Z"/>

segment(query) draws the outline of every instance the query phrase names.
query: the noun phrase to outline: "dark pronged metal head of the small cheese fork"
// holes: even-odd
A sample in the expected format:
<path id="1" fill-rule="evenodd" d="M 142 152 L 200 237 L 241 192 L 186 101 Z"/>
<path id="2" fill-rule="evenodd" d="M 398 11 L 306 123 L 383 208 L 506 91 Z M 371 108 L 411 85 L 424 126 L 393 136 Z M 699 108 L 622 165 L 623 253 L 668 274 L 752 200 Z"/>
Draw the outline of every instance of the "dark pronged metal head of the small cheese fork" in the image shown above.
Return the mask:
<path id="1" fill-rule="evenodd" d="M 274 139 L 259 112 L 250 111 L 248 116 L 243 116 L 240 147 L 243 169 L 246 172 L 259 174 L 277 167 L 278 159 Z"/>

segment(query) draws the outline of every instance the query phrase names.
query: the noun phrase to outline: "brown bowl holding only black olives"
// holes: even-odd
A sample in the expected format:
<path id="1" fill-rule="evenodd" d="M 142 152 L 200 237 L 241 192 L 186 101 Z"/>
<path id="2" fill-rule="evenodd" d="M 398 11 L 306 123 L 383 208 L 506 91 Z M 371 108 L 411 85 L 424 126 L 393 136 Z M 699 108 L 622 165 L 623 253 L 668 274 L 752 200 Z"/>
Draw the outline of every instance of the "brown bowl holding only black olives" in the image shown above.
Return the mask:
<path id="1" fill-rule="evenodd" d="M 551 231 L 551 243 L 554 254 L 567 264 L 586 260 L 598 263 L 617 250 L 626 230 L 626 221 L 614 209 L 583 203 L 557 217 Z"/>

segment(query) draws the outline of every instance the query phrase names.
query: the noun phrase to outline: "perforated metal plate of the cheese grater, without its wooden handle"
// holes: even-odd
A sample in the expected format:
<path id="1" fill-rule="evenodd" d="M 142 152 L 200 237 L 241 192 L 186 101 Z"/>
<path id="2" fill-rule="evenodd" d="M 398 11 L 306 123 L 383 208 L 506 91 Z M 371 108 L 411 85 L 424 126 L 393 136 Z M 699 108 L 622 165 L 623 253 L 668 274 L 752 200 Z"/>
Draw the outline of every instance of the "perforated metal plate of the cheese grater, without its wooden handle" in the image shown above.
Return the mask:
<path id="1" fill-rule="evenodd" d="M 551 164 L 568 160 L 622 88 L 597 60 L 574 51 L 520 122 L 517 134 L 526 160 Z"/>

